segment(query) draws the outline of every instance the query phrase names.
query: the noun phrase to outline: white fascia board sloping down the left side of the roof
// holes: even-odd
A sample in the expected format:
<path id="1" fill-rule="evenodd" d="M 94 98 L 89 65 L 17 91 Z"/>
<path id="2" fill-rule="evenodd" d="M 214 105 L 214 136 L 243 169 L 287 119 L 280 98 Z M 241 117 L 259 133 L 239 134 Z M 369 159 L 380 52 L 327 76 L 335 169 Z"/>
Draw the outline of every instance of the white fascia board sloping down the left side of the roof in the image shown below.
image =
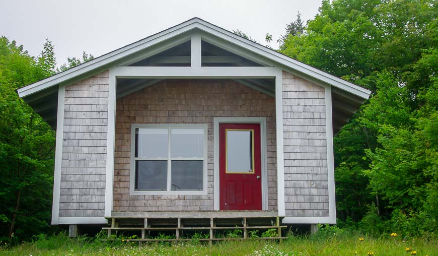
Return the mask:
<path id="1" fill-rule="evenodd" d="M 182 34 L 186 31 L 194 29 L 195 27 L 196 27 L 196 24 L 194 23 L 193 20 L 182 23 L 182 24 L 177 25 L 173 28 L 162 31 L 158 34 L 144 38 L 138 42 L 129 44 L 125 47 L 122 47 L 120 49 L 117 49 L 115 51 L 107 53 L 107 54 L 102 55 L 100 57 L 97 57 L 97 58 L 90 60 L 86 63 L 83 63 L 77 67 L 71 68 L 71 69 L 66 70 L 64 72 L 61 72 L 61 73 L 58 73 L 58 74 L 53 75 L 51 77 L 48 77 L 44 80 L 35 82 L 31 85 L 19 88 L 17 90 L 18 95 L 21 98 L 23 98 L 23 97 L 26 97 L 30 94 L 35 93 L 35 92 L 38 92 L 38 91 L 44 90 L 46 88 L 49 88 L 51 86 L 54 86 L 56 84 L 62 83 L 66 80 L 74 79 L 75 77 L 78 77 L 81 74 L 84 74 L 86 72 L 91 72 L 91 71 L 98 69 L 102 66 L 108 65 L 109 63 L 111 63 L 113 61 L 116 61 L 120 58 L 123 58 L 125 56 L 130 55 L 130 54 L 133 54 L 133 53 L 140 51 L 144 48 L 150 47 L 152 45 L 155 45 L 157 43 L 165 41 L 169 38 L 172 38 L 174 36 Z"/>

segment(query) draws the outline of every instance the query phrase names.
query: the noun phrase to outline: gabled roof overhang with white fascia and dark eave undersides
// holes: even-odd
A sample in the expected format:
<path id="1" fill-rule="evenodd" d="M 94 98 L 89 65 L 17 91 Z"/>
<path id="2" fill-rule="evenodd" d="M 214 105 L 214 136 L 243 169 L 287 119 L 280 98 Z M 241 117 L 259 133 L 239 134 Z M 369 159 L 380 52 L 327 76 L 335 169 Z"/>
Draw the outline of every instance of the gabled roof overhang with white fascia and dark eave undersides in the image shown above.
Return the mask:
<path id="1" fill-rule="evenodd" d="M 137 42 L 109 52 L 74 68 L 55 74 L 44 80 L 19 88 L 18 95 L 28 102 L 37 113 L 43 116 L 52 127 L 56 125 L 56 102 L 58 85 L 67 85 L 98 74 L 111 67 L 116 67 L 126 59 L 151 49 L 153 51 L 163 42 L 176 43 L 187 40 L 187 35 L 200 33 L 203 40 L 220 40 L 223 46 L 239 47 L 244 50 L 245 57 L 263 59 L 266 66 L 280 67 L 294 75 L 323 86 L 332 88 L 334 134 L 348 121 L 352 113 L 368 99 L 371 92 L 348 81 L 332 76 L 326 72 L 306 65 L 296 59 L 283 55 L 275 50 L 240 37 L 228 30 L 217 27 L 199 18 L 193 18 L 167 30 L 141 39 Z M 159 48 L 159 47 L 158 47 Z M 157 80 L 158 82 L 158 80 Z M 247 86 L 254 81 L 242 80 Z M 152 82 L 150 82 L 152 83 Z M 255 83 L 255 87 L 259 84 Z M 259 86 L 265 93 L 274 95 L 269 87 Z M 255 88 L 257 89 L 257 88 Z"/>

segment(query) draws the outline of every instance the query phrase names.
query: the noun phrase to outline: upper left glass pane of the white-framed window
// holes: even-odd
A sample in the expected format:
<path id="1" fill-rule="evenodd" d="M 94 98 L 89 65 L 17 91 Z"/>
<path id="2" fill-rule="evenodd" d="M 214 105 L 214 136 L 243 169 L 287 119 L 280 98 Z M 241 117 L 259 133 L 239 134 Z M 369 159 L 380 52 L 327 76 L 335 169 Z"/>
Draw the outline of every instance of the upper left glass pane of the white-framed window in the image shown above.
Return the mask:
<path id="1" fill-rule="evenodd" d="M 139 128 L 135 131 L 135 157 L 167 158 L 168 129 Z"/>

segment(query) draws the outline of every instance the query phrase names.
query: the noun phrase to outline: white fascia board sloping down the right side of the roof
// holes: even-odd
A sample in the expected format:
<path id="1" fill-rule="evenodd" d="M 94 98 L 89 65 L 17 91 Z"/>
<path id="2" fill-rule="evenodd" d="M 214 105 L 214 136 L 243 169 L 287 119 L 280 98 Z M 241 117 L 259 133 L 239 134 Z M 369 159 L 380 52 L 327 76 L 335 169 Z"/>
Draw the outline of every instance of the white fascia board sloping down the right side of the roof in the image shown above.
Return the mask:
<path id="1" fill-rule="evenodd" d="M 364 89 L 360 86 L 357 86 L 355 84 L 352 84 L 350 82 L 347 82 L 343 79 L 340 79 L 338 77 L 332 76 L 326 72 L 323 72 L 321 70 L 318 70 L 316 68 L 313 68 L 309 65 L 306 65 L 303 62 L 300 62 L 298 60 L 295 60 L 293 58 L 290 58 L 288 56 L 285 56 L 279 52 L 276 52 L 274 50 L 268 49 L 262 45 L 259 45 L 255 42 L 252 42 L 251 40 L 247 40 L 245 38 L 242 38 L 238 35 L 235 35 L 232 32 L 229 32 L 225 29 L 216 27 L 212 24 L 209 24 L 205 21 L 199 20 L 196 24 L 196 28 L 199 28 L 200 30 L 203 30 L 207 33 L 216 35 L 218 37 L 224 38 L 226 40 L 229 40 L 236 45 L 239 45 L 240 47 L 246 48 L 248 50 L 251 50 L 257 54 L 263 55 L 269 59 L 272 59 L 281 65 L 284 65 L 286 67 L 289 67 L 291 69 L 294 69 L 298 72 L 308 74 L 309 76 L 312 76 L 320 81 L 323 81 L 325 83 L 328 83 L 332 86 L 338 87 L 342 90 L 348 91 L 354 95 L 357 95 L 361 98 L 368 99 L 371 91 Z"/>

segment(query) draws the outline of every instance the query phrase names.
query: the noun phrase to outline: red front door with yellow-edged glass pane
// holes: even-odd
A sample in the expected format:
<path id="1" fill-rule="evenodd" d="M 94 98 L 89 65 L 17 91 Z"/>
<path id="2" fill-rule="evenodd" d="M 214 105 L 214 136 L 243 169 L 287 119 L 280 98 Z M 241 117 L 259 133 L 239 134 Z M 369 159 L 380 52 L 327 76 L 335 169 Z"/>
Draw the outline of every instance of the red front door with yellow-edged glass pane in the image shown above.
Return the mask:
<path id="1" fill-rule="evenodd" d="M 260 124 L 219 124 L 220 210 L 261 210 Z"/>

